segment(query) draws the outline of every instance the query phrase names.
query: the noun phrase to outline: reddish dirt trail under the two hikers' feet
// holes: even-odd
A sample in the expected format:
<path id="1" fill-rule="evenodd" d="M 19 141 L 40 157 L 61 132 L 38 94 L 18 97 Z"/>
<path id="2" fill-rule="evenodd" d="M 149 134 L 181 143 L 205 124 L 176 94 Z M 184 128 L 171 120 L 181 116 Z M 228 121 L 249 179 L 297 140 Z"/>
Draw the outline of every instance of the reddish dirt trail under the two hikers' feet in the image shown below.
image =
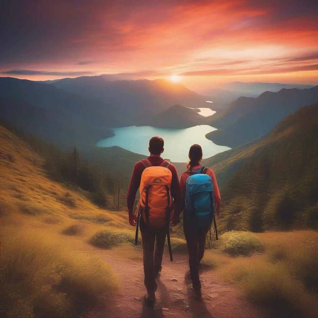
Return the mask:
<path id="1" fill-rule="evenodd" d="M 110 263 L 117 273 L 120 291 L 111 300 L 103 299 L 99 305 L 83 318 L 100 317 L 263 317 L 261 309 L 244 299 L 244 295 L 231 284 L 219 280 L 215 272 L 202 271 L 203 300 L 193 298 L 185 282 L 188 270 L 186 255 L 174 254 L 174 261 L 164 255 L 162 273 L 158 278 L 158 290 L 154 306 L 144 303 L 143 266 L 140 261 L 121 259 L 112 251 L 96 253 Z"/>

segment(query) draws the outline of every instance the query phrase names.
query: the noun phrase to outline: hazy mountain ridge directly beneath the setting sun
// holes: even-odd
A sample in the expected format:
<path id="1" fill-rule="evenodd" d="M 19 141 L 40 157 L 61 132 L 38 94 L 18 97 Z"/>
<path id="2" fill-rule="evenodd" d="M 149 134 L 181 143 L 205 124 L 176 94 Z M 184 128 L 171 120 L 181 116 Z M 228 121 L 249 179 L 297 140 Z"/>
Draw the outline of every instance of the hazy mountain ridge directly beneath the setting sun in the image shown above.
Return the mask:
<path id="1" fill-rule="evenodd" d="M 124 116 L 159 114 L 172 105 L 207 107 L 206 96 L 164 79 L 109 80 L 109 77 L 82 76 L 52 82 L 52 86 L 85 98 L 106 102 Z"/>

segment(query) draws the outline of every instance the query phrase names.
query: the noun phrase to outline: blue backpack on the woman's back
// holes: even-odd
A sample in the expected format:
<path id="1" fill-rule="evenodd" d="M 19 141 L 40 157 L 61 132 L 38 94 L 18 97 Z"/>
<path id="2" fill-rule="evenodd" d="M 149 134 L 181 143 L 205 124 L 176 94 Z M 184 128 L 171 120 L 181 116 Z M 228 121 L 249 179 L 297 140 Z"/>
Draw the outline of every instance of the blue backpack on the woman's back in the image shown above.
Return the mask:
<path id="1" fill-rule="evenodd" d="M 191 170 L 185 182 L 185 210 L 184 222 L 190 224 L 194 230 L 200 230 L 214 221 L 215 234 L 218 239 L 215 222 L 215 204 L 212 178 L 206 174 L 207 168 L 201 167 L 197 171 Z"/>

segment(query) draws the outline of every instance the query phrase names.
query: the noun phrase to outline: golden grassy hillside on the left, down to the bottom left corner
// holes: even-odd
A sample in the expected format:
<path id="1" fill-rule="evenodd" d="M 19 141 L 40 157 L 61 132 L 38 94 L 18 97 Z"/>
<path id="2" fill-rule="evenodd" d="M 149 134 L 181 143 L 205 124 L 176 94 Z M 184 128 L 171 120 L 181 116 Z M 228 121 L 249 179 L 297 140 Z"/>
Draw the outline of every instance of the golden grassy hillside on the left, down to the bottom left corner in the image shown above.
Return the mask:
<path id="1" fill-rule="evenodd" d="M 127 222 L 48 178 L 45 159 L 3 127 L 0 141 L 1 313 L 78 317 L 116 280 L 107 264 L 71 244 L 69 228 L 85 242 Z"/>

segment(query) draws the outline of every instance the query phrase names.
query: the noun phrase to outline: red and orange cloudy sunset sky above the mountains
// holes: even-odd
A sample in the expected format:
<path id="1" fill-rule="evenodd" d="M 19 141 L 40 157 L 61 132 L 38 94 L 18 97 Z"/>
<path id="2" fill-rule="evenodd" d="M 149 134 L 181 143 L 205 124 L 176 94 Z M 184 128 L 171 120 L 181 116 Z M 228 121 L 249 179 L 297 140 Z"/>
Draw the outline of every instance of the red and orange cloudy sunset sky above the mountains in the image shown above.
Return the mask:
<path id="1" fill-rule="evenodd" d="M 0 41 L 0 76 L 21 79 L 318 85 L 318 1 L 5 1 Z"/>

